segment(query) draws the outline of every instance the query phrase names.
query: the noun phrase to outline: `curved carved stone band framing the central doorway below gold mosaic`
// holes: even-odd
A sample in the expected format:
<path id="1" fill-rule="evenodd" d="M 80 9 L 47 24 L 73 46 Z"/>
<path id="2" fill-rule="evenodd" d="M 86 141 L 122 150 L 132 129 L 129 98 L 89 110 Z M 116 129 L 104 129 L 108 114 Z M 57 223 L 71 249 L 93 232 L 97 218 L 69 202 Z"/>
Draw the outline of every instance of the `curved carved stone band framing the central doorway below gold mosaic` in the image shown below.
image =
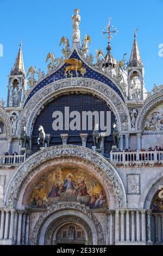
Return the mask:
<path id="1" fill-rule="evenodd" d="M 86 206 L 72 202 L 55 204 L 43 212 L 33 229 L 32 244 L 43 245 L 49 224 L 56 218 L 67 215 L 79 217 L 83 223 L 87 223 L 87 230 L 91 229 L 90 239 L 93 245 L 104 245 L 103 230 L 96 216 Z"/>

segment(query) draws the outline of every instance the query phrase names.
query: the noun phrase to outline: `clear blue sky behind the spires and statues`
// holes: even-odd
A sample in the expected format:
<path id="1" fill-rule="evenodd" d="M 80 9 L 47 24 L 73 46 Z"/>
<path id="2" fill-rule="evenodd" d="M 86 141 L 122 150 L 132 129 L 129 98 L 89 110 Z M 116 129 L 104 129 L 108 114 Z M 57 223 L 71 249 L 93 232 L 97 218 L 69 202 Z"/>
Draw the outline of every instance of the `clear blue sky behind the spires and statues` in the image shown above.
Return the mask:
<path id="1" fill-rule="evenodd" d="M 42 0 L 0 0 L 0 44 L 4 54 L 0 57 L 0 97 L 7 99 L 8 75 L 14 65 L 22 38 L 24 66 L 36 65 L 37 69 L 47 71 L 46 56 L 55 52 L 61 57 L 60 39 L 67 35 L 71 42 L 71 15 L 75 8 L 80 9 L 81 36 L 89 34 L 92 46 L 90 52 L 106 48 L 102 29 L 112 17 L 112 24 L 119 33 L 112 39 L 112 54 L 122 59 L 127 52 L 129 59 L 134 40 L 134 29 L 139 28 L 137 41 L 145 66 L 146 88 L 153 84 L 163 84 L 163 57 L 159 57 L 159 44 L 163 44 L 163 0 L 82 0 L 82 1 L 42 1 Z"/>

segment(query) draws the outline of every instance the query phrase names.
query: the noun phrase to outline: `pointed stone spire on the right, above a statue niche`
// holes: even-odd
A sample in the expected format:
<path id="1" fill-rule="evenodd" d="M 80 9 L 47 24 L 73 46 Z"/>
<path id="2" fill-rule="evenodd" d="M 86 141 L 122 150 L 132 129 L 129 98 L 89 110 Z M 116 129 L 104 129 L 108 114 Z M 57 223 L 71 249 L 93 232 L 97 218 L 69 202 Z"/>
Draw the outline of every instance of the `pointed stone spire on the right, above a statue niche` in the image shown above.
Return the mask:
<path id="1" fill-rule="evenodd" d="M 135 28 L 135 34 L 134 34 L 135 39 L 134 39 L 133 48 L 132 48 L 128 66 L 143 66 L 141 56 L 140 56 L 139 47 L 138 47 L 137 40 L 136 40 L 136 37 L 137 37 L 136 32 L 137 31 L 138 31 L 138 29 Z"/>

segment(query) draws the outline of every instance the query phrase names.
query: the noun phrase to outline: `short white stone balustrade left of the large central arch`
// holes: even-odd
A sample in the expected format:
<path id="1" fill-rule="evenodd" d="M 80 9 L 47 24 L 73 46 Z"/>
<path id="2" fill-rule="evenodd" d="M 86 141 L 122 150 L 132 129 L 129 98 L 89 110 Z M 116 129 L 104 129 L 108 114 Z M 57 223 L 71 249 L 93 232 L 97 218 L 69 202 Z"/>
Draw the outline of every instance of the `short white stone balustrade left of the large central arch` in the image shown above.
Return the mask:
<path id="1" fill-rule="evenodd" d="M 0 156 L 0 165 L 16 165 L 21 164 L 25 161 L 24 155 L 15 155 L 15 156 Z"/>

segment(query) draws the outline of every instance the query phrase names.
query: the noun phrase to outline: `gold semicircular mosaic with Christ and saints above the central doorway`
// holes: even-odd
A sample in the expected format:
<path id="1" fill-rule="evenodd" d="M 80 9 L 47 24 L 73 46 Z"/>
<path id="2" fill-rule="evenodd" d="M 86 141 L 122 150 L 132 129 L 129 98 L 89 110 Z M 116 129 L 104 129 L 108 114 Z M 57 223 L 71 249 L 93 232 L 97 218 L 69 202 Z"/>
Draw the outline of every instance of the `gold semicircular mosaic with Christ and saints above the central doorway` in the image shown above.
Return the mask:
<path id="1" fill-rule="evenodd" d="M 28 206 L 47 208 L 57 202 L 78 202 L 91 209 L 106 208 L 102 185 L 80 168 L 57 167 L 40 178 L 33 188 Z"/>

